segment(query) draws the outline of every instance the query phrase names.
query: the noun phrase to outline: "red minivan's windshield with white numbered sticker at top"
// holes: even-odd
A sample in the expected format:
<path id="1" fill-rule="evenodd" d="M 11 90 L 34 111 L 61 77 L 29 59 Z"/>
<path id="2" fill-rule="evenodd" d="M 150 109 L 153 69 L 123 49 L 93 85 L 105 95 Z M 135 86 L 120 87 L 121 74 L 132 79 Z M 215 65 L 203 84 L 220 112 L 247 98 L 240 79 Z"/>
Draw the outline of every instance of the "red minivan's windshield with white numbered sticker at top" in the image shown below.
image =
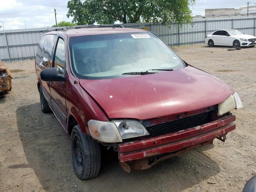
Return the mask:
<path id="1" fill-rule="evenodd" d="M 69 47 L 73 71 L 84 79 L 127 77 L 129 74 L 125 73 L 177 70 L 185 66 L 150 32 L 71 37 Z M 154 71 L 158 72 L 165 71 Z"/>

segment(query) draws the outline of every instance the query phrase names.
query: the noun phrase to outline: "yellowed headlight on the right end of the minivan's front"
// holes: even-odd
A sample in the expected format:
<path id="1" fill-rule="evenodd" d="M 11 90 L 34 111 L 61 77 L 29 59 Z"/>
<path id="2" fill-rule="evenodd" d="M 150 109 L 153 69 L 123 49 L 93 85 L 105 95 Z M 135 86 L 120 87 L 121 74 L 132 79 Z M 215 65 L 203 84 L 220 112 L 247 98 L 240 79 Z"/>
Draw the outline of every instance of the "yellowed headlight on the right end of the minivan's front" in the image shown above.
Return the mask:
<path id="1" fill-rule="evenodd" d="M 230 95 L 226 100 L 218 106 L 218 116 L 230 112 L 233 109 L 240 109 L 243 107 L 242 101 L 238 94 L 235 92 Z"/>

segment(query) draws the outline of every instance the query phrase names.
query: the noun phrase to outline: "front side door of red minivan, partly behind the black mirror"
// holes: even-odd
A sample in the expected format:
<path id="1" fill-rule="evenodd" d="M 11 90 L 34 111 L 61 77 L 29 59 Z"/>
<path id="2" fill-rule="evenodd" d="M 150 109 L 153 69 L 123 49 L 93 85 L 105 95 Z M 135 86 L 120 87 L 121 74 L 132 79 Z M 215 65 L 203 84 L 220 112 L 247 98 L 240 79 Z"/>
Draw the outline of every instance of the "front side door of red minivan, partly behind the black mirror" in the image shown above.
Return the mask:
<path id="1" fill-rule="evenodd" d="M 60 72 L 66 75 L 66 54 L 65 54 L 65 42 L 62 38 L 58 38 L 54 57 L 53 66 L 60 69 Z M 56 114 L 58 120 L 65 126 L 67 119 L 66 110 L 66 81 L 54 81 L 50 82 L 51 95 L 52 95 L 52 108 Z"/>

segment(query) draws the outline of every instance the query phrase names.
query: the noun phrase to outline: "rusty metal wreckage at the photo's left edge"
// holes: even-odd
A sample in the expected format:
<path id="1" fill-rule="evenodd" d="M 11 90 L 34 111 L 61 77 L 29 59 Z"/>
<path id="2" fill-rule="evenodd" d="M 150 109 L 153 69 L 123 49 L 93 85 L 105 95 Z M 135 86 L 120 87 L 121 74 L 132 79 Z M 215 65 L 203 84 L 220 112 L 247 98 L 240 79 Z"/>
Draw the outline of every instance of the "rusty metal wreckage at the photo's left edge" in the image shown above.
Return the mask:
<path id="1" fill-rule="evenodd" d="M 12 74 L 0 60 L 0 94 L 12 90 Z"/>

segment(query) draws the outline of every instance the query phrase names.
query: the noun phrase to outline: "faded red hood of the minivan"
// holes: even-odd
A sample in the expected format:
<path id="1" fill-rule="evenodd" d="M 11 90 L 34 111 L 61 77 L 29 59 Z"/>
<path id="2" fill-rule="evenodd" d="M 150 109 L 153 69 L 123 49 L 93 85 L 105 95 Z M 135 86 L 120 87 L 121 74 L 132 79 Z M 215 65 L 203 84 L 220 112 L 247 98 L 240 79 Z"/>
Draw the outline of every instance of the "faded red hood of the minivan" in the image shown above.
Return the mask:
<path id="1" fill-rule="evenodd" d="M 146 120 L 223 102 L 234 91 L 218 78 L 188 66 L 144 76 L 80 80 L 109 118 Z"/>

